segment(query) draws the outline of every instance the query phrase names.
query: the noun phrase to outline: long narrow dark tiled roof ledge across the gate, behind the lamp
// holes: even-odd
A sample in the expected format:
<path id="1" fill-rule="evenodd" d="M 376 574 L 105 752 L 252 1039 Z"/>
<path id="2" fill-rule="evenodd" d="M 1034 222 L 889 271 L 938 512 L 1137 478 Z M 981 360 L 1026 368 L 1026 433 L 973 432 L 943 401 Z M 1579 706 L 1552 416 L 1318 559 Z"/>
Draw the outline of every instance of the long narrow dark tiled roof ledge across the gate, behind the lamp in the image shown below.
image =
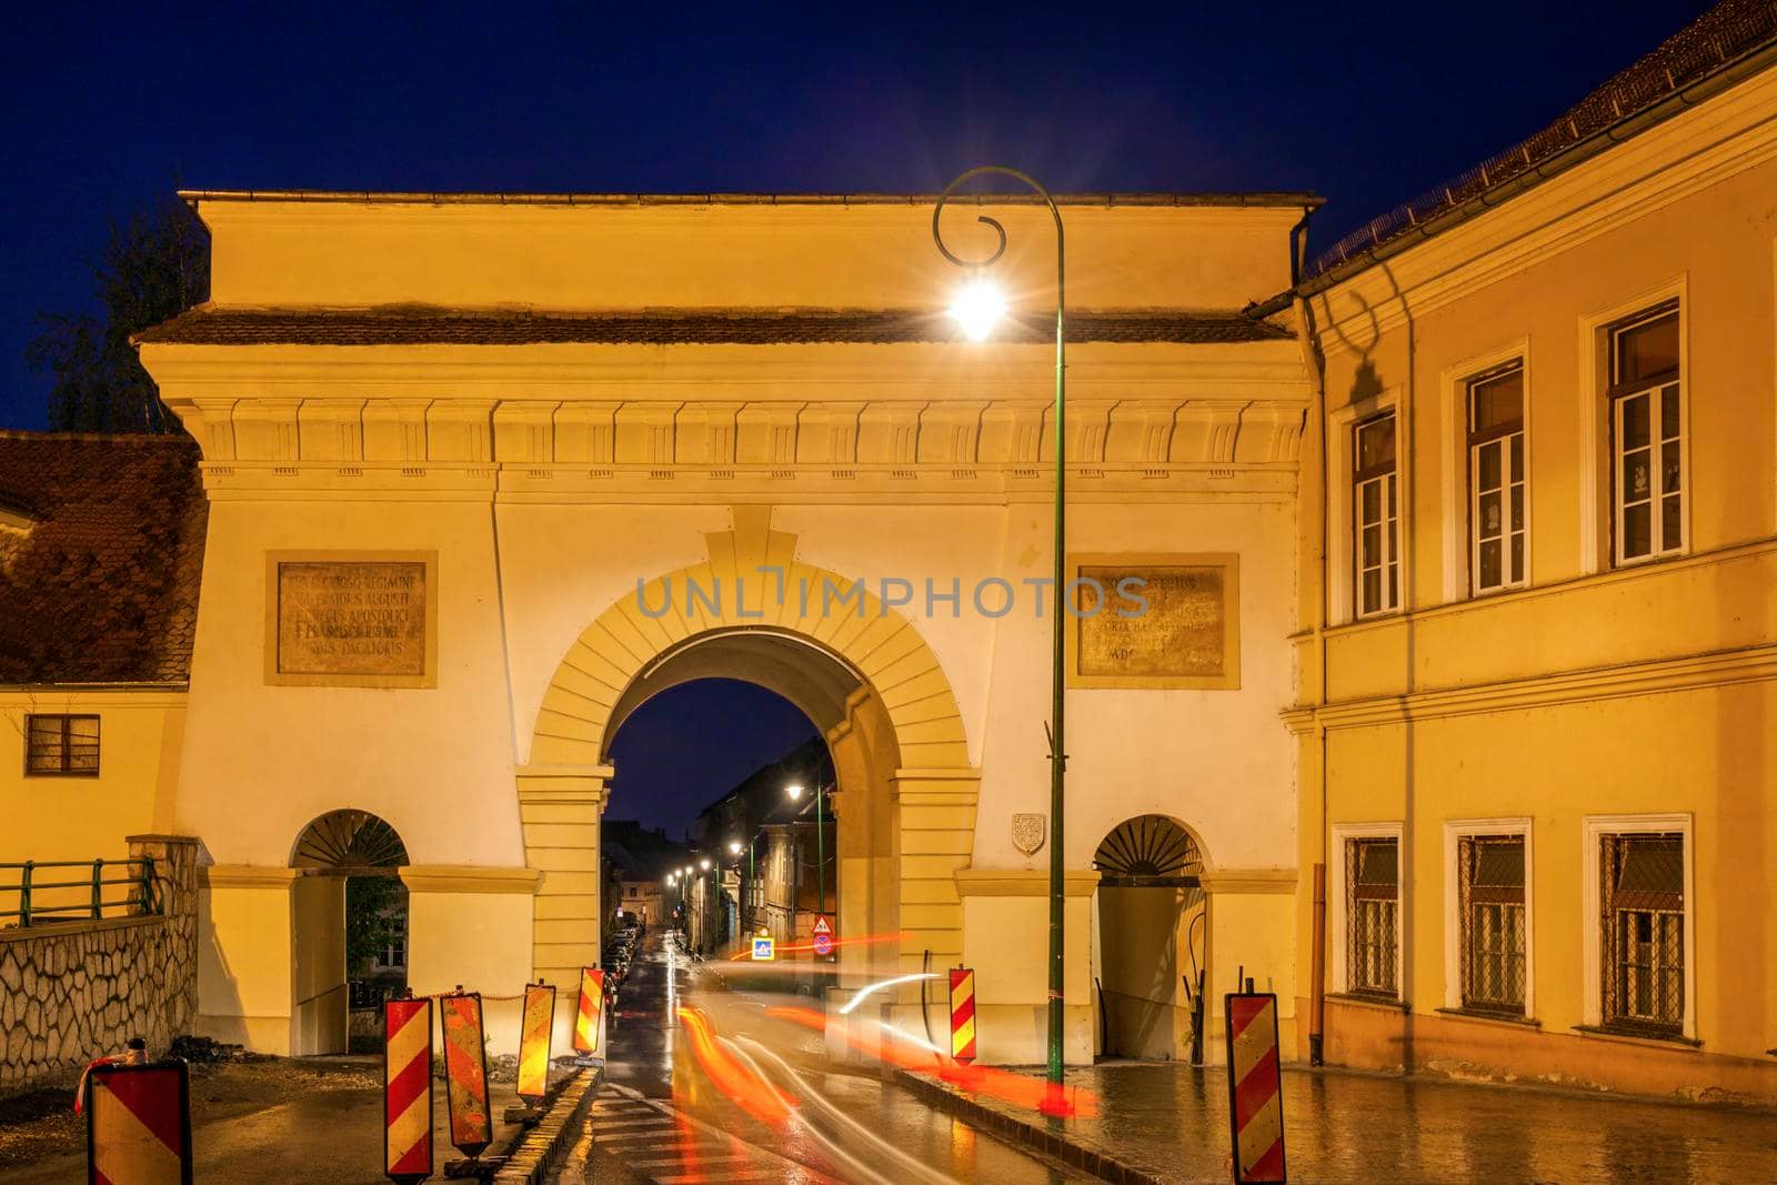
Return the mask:
<path id="1" fill-rule="evenodd" d="M 1054 322 L 1008 318 L 1000 339 L 1052 341 Z M 176 345 L 798 345 L 956 341 L 942 313 L 904 309 L 643 309 L 636 313 L 530 313 L 437 307 L 226 309 L 204 306 L 146 329 L 137 343 Z M 1068 341 L 1240 343 L 1290 330 L 1233 311 L 1068 313 Z"/>

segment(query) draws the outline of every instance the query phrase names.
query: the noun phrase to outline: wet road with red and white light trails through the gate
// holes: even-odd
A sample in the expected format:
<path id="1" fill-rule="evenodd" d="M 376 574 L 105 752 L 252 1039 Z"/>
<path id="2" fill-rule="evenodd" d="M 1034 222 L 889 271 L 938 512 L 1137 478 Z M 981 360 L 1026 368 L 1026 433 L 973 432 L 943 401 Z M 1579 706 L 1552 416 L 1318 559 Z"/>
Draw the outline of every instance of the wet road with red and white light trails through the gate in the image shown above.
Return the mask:
<path id="1" fill-rule="evenodd" d="M 618 1002 L 608 1087 L 556 1180 L 1091 1180 L 1002 1144 L 874 1075 L 833 1073 L 821 1061 L 817 1034 L 766 1016 L 768 1006 L 785 1002 L 796 997 L 729 991 L 720 968 L 693 965 L 650 933 Z M 704 1020 L 673 1023 L 679 1006 Z M 709 1032 L 702 1054 L 700 1032 Z M 757 1068 L 794 1103 L 780 1110 L 750 1094 L 745 1075 L 723 1073 L 736 1064 Z"/>

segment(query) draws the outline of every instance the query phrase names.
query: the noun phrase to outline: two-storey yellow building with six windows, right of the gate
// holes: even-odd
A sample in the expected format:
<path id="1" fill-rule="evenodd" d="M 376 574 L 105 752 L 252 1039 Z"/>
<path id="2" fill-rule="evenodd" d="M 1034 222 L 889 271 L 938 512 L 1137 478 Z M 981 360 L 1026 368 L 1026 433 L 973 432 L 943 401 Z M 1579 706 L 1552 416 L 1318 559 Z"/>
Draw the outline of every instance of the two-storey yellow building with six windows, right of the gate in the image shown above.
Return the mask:
<path id="1" fill-rule="evenodd" d="M 1777 71 L 1683 37 L 1297 290 L 1331 1062 L 1777 1096 Z"/>

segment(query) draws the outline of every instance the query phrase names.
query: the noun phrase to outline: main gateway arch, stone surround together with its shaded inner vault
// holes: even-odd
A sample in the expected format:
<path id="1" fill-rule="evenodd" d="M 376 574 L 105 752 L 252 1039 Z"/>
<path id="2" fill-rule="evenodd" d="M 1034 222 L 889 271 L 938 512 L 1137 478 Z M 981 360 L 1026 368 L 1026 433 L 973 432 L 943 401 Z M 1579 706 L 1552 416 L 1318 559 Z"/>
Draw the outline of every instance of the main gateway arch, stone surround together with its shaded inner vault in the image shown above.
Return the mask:
<path id="1" fill-rule="evenodd" d="M 734 529 L 705 542 L 705 563 L 636 588 L 569 648 L 537 718 L 521 808 L 544 817 L 579 794 L 602 810 L 611 739 L 638 705 L 697 679 L 759 684 L 807 714 L 832 753 L 841 940 L 901 934 L 841 942 L 841 979 L 919 970 L 926 950 L 936 965 L 958 961 L 956 871 L 974 847 L 979 771 L 936 656 L 864 585 L 798 561 L 796 537 L 771 529 L 768 506 L 736 506 Z M 574 908 L 574 885 L 549 871 L 538 885 L 540 975 L 572 974 L 576 949 L 553 942 L 542 919 Z"/>

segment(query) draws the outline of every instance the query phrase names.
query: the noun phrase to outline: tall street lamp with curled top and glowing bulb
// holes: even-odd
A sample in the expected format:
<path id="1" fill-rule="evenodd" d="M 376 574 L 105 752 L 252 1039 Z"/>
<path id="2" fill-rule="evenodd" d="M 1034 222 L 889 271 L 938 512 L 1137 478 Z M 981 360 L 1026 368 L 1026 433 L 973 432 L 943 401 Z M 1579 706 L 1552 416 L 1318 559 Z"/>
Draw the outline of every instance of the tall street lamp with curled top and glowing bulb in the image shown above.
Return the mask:
<path id="1" fill-rule="evenodd" d="M 1068 300 L 1066 300 L 1066 242 L 1061 227 L 1061 210 L 1048 190 L 1027 172 L 1008 169 L 1006 165 L 979 165 L 960 174 L 944 187 L 938 204 L 931 211 L 931 242 L 938 252 L 968 274 L 968 282 L 958 291 L 951 314 L 961 323 L 963 332 L 974 341 L 986 341 L 993 332 L 993 323 L 1006 313 L 1006 298 L 986 279 L 986 268 L 999 263 L 1006 254 L 1006 227 L 988 215 L 977 215 L 976 222 L 988 226 L 999 236 L 999 243 L 986 259 L 965 259 L 944 245 L 944 231 L 938 220 L 944 217 L 944 204 L 958 187 L 976 178 L 1000 176 L 1022 181 L 1031 187 L 1048 213 L 1056 219 L 1056 585 L 1054 585 L 1054 636 L 1050 650 L 1050 727 L 1048 727 L 1048 1091 L 1043 1096 L 1045 1114 L 1068 1114 L 1072 1109 L 1061 1089 L 1061 1041 L 1063 1041 L 1063 966 L 1064 966 L 1064 908 L 1063 897 L 1066 867 L 1063 863 L 1063 803 L 1066 798 L 1066 764 L 1063 728 L 1063 661 L 1066 643 L 1066 615 L 1061 599 L 1066 592 L 1066 350 L 1068 350 Z"/>

